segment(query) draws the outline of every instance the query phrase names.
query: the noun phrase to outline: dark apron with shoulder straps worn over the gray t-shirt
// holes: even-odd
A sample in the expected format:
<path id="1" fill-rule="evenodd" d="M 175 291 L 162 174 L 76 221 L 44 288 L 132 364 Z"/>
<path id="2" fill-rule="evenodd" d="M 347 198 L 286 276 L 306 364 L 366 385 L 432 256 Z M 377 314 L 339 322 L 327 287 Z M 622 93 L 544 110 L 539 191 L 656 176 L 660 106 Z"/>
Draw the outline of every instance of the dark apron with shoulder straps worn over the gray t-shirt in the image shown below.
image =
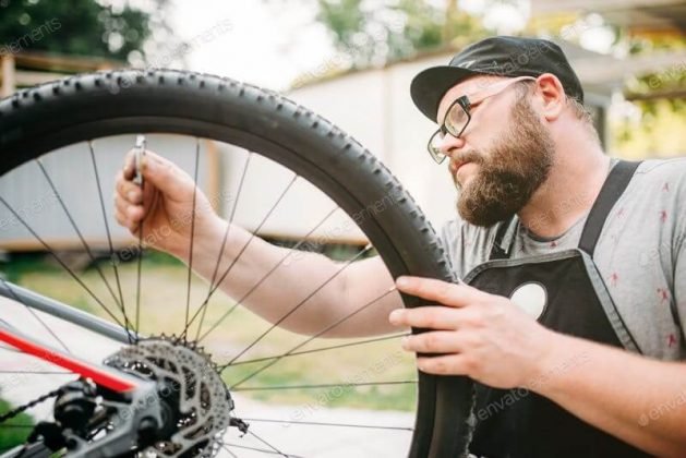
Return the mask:
<path id="1" fill-rule="evenodd" d="M 638 346 L 592 260 L 605 219 L 637 166 L 637 162 L 619 161 L 613 167 L 591 208 L 578 249 L 509 260 L 514 237 L 507 250 L 503 249 L 503 241 L 506 233 L 514 233 L 513 218 L 498 228 L 489 262 L 472 269 L 465 282 L 513 298 L 513 294 L 527 285 L 530 292 L 535 290 L 532 297 L 540 299 L 542 312 L 538 321 L 543 326 L 638 353 Z M 582 364 L 582 355 L 566 363 L 567 369 Z M 565 366 L 555 370 L 565 371 Z M 545 383 L 544 379 L 531 381 Z M 470 451 L 479 457 L 649 456 L 523 388 L 496 389 L 478 384 L 474 413 L 477 425 Z"/>

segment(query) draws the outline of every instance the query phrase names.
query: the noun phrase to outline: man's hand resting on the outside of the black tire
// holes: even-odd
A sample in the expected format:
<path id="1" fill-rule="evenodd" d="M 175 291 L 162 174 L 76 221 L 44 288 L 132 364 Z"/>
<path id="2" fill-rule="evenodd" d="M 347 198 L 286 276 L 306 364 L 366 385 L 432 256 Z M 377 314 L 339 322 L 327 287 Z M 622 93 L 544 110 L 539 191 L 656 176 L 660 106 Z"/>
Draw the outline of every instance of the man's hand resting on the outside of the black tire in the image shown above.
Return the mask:
<path id="1" fill-rule="evenodd" d="M 558 335 L 509 299 L 430 278 L 399 277 L 396 286 L 440 304 L 389 315 L 393 325 L 430 329 L 402 342 L 407 351 L 442 353 L 419 357 L 422 372 L 467 375 L 497 388 L 535 385 L 544 373 L 545 357 Z"/>

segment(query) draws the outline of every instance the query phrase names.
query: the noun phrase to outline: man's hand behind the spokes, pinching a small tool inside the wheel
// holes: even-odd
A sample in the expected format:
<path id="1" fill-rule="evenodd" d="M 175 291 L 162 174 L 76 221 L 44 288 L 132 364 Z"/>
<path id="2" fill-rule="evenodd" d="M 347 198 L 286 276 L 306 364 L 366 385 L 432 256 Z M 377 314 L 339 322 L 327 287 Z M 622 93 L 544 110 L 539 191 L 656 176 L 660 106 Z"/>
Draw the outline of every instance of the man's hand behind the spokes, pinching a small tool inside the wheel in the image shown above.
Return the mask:
<path id="1" fill-rule="evenodd" d="M 143 189 L 133 182 L 134 152 L 130 152 L 123 169 L 117 174 L 117 221 L 135 237 L 143 221 L 146 245 L 178 257 L 188 256 L 195 183 L 173 162 L 149 150 L 145 152 L 141 168 Z M 195 238 L 201 238 L 219 218 L 207 197 L 200 190 L 195 194 Z"/>

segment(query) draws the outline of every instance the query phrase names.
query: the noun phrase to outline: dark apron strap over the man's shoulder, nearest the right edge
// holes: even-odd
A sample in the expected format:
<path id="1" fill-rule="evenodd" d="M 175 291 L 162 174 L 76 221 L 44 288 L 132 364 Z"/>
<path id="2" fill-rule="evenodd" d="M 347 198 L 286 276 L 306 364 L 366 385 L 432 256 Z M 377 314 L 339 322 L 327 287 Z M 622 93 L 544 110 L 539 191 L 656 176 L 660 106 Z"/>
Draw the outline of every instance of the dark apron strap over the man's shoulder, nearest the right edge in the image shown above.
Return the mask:
<path id="1" fill-rule="evenodd" d="M 610 210 L 626 190 L 639 165 L 640 161 L 619 160 L 605 179 L 603 188 L 600 190 L 600 194 L 595 198 L 591 213 L 586 220 L 581 240 L 579 241 L 579 249 L 587 252 L 591 258 Z"/>

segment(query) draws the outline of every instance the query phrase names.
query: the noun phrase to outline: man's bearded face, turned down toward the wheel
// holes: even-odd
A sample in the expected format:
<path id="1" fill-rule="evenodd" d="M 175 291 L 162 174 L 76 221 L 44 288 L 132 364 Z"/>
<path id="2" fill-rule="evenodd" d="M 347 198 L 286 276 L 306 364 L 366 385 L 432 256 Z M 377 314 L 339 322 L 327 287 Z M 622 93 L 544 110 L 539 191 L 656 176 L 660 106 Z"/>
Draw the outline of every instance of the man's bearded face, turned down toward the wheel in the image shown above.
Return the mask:
<path id="1" fill-rule="evenodd" d="M 457 97 L 473 95 L 471 121 L 460 138 L 444 142 L 448 170 L 459 195 L 462 219 L 489 227 L 509 219 L 545 181 L 554 161 L 554 143 L 515 83 L 479 101 L 479 92 L 502 79 L 474 77 L 453 87 L 441 101 L 438 120 Z M 471 99 L 471 97 L 470 97 Z"/>

